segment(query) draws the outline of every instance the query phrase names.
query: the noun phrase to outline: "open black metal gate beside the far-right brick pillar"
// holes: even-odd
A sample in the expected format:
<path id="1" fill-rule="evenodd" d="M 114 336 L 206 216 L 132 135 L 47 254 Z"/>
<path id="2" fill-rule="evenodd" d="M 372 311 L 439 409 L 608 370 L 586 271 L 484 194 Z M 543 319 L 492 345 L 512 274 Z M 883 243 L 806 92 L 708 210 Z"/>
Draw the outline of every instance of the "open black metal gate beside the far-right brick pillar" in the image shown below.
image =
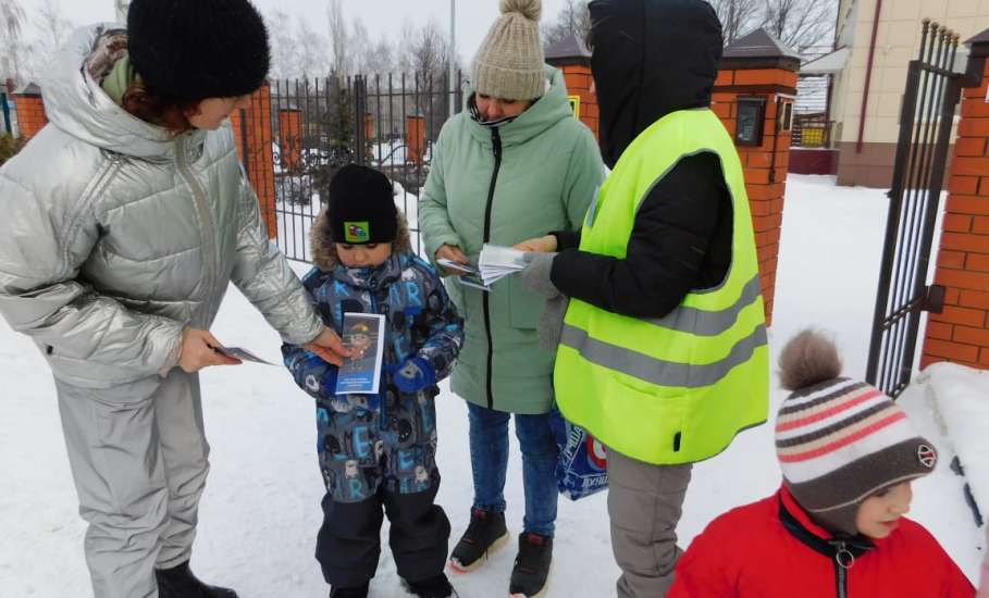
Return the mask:
<path id="1" fill-rule="evenodd" d="M 953 71 L 959 36 L 924 21 L 910 63 L 866 379 L 891 397 L 910 384 L 924 311 L 940 313 L 944 289 L 927 286 L 948 149 L 965 75 Z M 863 115 L 864 117 L 865 115 Z"/>

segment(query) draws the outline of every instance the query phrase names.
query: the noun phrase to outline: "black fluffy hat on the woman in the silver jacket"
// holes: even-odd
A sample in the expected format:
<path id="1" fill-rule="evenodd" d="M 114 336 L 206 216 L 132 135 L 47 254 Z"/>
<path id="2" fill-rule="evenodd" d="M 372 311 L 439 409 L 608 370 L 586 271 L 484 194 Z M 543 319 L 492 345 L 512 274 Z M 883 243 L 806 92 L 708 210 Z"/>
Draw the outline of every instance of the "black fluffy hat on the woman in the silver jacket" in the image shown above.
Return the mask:
<path id="1" fill-rule="evenodd" d="M 187 100 L 250 94 L 271 62 L 268 29 L 248 0 L 134 0 L 127 37 L 144 82 Z"/>

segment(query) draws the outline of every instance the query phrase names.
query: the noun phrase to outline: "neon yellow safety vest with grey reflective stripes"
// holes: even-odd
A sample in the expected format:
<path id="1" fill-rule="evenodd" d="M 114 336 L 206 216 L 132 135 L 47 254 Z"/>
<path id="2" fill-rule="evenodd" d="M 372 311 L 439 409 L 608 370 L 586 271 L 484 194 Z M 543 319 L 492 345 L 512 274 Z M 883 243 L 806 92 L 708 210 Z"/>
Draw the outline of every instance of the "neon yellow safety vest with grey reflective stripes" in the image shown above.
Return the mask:
<path id="1" fill-rule="evenodd" d="M 582 251 L 625 259 L 643 199 L 684 157 L 714 153 L 732 200 L 732 254 L 718 287 L 663 317 L 571 299 L 554 385 L 564 415 L 609 449 L 654 464 L 724 450 L 766 420 L 769 350 L 752 216 L 738 151 L 709 110 L 675 112 L 625 150 L 584 222 Z"/>

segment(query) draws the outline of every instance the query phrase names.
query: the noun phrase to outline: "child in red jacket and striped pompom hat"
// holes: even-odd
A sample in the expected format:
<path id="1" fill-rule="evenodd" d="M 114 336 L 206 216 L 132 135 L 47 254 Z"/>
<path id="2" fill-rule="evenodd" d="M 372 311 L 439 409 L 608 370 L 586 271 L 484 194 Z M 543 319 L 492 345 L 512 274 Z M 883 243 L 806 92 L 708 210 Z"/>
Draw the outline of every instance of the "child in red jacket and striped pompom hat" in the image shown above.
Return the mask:
<path id="1" fill-rule="evenodd" d="M 876 388 L 839 377 L 835 346 L 805 331 L 780 356 L 776 448 L 783 485 L 715 519 L 667 598 L 972 598 L 938 541 L 904 518 L 934 446 Z"/>

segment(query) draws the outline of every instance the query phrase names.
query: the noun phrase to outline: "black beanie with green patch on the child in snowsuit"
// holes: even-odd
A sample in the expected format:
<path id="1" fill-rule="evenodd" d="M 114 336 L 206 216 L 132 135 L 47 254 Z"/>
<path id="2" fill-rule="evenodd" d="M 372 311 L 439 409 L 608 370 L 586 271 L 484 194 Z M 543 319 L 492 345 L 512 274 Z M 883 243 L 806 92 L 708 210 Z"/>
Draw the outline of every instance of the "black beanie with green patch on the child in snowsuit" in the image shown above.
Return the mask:
<path id="1" fill-rule="evenodd" d="M 388 177 L 368 166 L 348 164 L 330 180 L 326 215 L 334 242 L 392 242 L 398 235 L 398 209 Z"/>

